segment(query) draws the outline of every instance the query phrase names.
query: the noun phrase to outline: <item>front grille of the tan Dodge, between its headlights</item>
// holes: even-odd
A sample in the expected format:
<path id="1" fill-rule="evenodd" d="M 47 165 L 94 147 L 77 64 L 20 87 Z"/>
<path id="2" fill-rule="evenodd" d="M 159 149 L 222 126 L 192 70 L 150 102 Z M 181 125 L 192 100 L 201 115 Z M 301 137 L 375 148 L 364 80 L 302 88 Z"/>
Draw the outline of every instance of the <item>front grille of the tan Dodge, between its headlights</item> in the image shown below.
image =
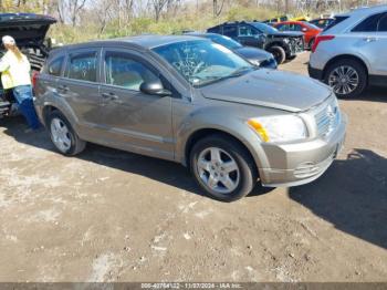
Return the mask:
<path id="1" fill-rule="evenodd" d="M 335 97 L 317 108 L 314 115 L 318 136 L 327 136 L 339 122 L 339 110 Z"/>

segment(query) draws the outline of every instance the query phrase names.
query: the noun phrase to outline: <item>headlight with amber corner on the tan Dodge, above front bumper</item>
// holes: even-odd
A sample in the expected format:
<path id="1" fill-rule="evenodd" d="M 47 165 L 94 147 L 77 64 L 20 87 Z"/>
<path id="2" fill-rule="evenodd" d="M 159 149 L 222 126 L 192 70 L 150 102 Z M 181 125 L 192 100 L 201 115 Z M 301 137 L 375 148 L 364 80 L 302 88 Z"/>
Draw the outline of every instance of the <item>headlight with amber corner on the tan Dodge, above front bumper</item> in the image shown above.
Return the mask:
<path id="1" fill-rule="evenodd" d="M 254 117 L 248 124 L 264 142 L 287 142 L 306 137 L 305 124 L 295 115 Z"/>

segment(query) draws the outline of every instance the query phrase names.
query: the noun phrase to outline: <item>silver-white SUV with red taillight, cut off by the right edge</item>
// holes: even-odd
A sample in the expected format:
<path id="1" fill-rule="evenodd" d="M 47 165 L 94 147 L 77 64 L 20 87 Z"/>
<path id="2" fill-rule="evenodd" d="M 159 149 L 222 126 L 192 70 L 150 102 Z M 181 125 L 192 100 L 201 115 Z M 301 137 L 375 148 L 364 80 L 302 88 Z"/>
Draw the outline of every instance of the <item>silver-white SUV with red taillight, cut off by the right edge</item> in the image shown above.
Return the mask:
<path id="1" fill-rule="evenodd" d="M 387 6 L 335 17 L 312 48 L 310 75 L 337 96 L 358 96 L 367 85 L 387 84 Z"/>

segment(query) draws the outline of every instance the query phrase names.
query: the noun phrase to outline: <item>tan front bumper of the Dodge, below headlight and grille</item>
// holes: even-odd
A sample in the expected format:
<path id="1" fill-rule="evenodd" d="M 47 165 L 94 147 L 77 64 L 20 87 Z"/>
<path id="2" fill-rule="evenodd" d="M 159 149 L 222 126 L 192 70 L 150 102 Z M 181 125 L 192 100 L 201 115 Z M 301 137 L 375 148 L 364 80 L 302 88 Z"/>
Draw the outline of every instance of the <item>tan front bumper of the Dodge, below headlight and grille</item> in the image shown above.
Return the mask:
<path id="1" fill-rule="evenodd" d="M 271 168 L 260 168 L 263 186 L 297 186 L 317 179 L 331 166 L 343 147 L 346 132 L 346 116 L 326 138 L 297 144 L 265 144 L 264 153 Z"/>

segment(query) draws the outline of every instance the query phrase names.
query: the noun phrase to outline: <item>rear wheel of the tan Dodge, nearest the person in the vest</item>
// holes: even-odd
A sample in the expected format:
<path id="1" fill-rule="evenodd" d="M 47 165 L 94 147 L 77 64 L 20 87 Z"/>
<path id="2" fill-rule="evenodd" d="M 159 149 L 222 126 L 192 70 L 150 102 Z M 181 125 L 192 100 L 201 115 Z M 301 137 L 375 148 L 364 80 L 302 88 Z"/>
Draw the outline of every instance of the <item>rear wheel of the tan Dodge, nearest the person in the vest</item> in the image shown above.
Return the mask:
<path id="1" fill-rule="evenodd" d="M 61 154 L 66 156 L 74 156 L 83 152 L 86 147 L 86 142 L 77 136 L 70 122 L 61 112 L 53 111 L 48 116 L 46 124 L 51 141 Z M 59 127 L 62 130 L 62 133 L 59 133 Z M 62 139 L 62 142 L 60 139 Z M 62 146 L 61 143 L 63 143 Z M 66 144 L 64 145 L 64 143 Z"/>

